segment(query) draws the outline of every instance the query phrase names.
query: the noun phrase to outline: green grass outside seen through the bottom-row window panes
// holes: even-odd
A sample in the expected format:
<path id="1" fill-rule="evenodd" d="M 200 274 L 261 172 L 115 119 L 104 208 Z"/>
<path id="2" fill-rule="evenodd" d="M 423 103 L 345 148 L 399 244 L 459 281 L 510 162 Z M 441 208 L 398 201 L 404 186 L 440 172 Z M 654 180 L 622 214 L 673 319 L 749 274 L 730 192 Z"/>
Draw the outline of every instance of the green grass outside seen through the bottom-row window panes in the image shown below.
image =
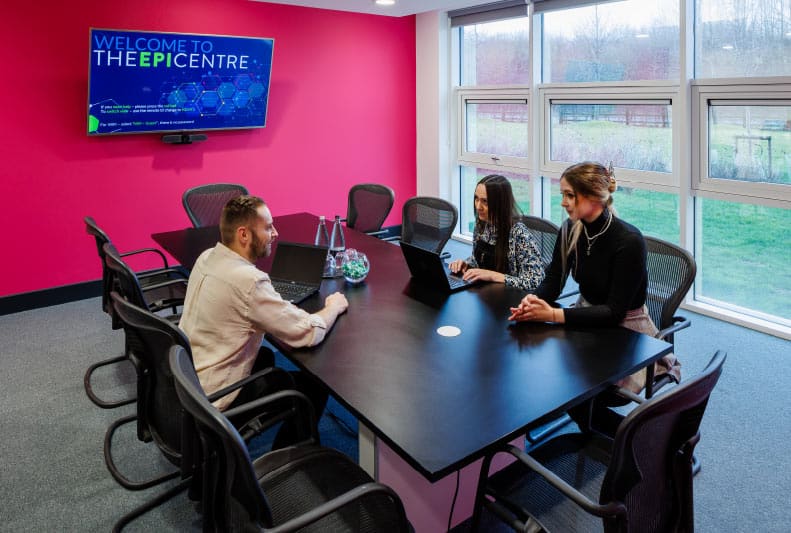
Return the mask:
<path id="1" fill-rule="evenodd" d="M 462 228 L 472 233 L 472 196 L 475 184 L 491 173 L 465 167 L 462 172 Z M 507 174 L 517 203 L 530 212 L 530 183 Z M 552 181 L 550 219 L 560 224 L 560 186 Z M 680 240 L 678 196 L 634 188 L 619 188 L 614 195 L 618 216 L 651 235 L 675 244 Z M 791 212 L 786 209 L 699 198 L 701 225 L 696 242 L 697 296 L 754 309 L 784 319 L 791 317 Z"/>

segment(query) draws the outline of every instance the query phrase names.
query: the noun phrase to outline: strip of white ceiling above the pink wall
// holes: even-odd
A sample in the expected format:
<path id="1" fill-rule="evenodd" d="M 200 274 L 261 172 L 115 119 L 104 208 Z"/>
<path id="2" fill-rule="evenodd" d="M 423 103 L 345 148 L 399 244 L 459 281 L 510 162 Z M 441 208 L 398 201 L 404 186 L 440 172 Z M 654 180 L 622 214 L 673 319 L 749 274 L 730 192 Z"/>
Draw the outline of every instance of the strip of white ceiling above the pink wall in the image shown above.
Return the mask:
<path id="1" fill-rule="evenodd" d="M 395 5 L 379 6 L 374 0 L 253 0 L 270 4 L 289 4 L 292 6 L 317 7 L 337 11 L 353 11 L 372 15 L 403 17 L 426 11 L 461 9 L 493 0 L 395 0 Z"/>

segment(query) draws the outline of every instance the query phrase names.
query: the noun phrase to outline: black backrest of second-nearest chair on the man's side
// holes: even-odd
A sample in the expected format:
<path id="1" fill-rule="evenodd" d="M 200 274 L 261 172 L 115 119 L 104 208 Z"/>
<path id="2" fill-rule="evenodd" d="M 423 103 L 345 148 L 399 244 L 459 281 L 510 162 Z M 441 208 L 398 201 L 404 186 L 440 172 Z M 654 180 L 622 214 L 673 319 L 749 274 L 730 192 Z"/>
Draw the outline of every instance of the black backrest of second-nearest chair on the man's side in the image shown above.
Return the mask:
<path id="1" fill-rule="evenodd" d="M 168 354 L 182 347 L 192 364 L 187 337 L 176 326 L 112 291 L 111 300 L 126 334 L 127 353 L 137 368 L 138 435 L 147 433 L 171 462 L 181 464 L 182 409 L 176 395 Z M 147 439 L 145 439 L 147 440 Z"/>

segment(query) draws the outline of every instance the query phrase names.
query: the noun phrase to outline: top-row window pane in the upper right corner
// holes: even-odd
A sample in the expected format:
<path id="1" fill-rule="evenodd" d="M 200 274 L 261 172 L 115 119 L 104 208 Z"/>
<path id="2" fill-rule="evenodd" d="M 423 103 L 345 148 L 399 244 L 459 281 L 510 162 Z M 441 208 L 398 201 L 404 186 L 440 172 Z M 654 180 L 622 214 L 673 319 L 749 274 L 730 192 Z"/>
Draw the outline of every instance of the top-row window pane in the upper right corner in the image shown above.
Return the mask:
<path id="1" fill-rule="evenodd" d="M 695 76 L 791 74 L 791 2 L 697 0 Z"/>

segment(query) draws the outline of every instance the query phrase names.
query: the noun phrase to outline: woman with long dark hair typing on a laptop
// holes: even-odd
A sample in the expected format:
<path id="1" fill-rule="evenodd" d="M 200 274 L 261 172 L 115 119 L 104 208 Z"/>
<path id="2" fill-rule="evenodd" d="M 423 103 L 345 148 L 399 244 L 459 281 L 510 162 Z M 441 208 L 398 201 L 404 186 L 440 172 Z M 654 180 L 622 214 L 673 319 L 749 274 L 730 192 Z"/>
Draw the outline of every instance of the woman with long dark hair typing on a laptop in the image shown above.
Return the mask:
<path id="1" fill-rule="evenodd" d="M 538 245 L 520 220 L 511 183 L 490 174 L 475 187 L 472 255 L 450 263 L 466 280 L 493 281 L 533 290 L 544 278 Z"/>

